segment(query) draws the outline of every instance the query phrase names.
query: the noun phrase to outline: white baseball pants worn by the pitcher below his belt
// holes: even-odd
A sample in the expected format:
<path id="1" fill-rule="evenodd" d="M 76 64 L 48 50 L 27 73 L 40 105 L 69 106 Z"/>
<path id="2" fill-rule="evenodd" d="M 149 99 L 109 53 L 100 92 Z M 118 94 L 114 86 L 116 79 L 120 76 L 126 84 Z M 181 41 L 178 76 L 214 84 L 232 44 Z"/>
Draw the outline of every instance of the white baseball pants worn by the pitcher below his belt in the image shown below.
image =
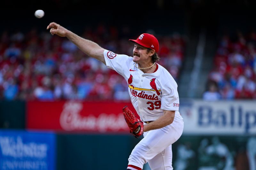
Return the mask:
<path id="1" fill-rule="evenodd" d="M 132 150 L 128 165 L 143 168 L 148 162 L 151 170 L 172 170 L 172 144 L 180 138 L 183 128 L 183 118 L 176 111 L 170 125 L 144 132 L 144 138 Z"/>

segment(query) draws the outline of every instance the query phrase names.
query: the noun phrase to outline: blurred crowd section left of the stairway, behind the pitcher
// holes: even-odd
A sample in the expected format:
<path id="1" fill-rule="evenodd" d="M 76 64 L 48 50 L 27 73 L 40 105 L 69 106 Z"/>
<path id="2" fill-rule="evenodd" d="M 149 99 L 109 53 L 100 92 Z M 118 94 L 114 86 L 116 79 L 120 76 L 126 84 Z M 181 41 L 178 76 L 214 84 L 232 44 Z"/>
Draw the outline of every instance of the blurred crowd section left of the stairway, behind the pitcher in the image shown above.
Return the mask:
<path id="1" fill-rule="evenodd" d="M 114 27 L 86 28 L 82 37 L 117 54 L 132 56 L 133 44 Z M 157 36 L 157 35 L 156 35 Z M 157 36 L 158 62 L 177 79 L 185 43 L 179 33 Z M 130 100 L 127 82 L 103 63 L 86 56 L 67 38 L 49 32 L 0 34 L 0 99 Z"/>

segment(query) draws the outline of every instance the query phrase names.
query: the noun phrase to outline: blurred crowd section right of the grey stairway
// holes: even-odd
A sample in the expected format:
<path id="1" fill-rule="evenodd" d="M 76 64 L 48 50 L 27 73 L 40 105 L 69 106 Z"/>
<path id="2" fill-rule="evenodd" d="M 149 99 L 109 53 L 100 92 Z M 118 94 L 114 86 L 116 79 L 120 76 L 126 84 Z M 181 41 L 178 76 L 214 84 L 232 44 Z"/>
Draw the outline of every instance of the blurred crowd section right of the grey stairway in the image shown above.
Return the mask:
<path id="1" fill-rule="evenodd" d="M 209 74 L 205 100 L 256 99 L 256 33 L 235 38 L 224 35 L 218 46 L 214 69 Z"/>

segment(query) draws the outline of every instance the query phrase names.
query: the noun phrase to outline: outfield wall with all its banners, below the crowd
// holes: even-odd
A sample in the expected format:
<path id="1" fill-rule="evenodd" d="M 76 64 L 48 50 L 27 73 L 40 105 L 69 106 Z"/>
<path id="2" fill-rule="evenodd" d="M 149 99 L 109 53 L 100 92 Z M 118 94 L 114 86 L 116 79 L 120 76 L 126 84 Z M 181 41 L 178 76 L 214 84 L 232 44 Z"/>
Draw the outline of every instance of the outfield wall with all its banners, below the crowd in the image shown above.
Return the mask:
<path id="1" fill-rule="evenodd" d="M 185 126 L 172 146 L 173 167 L 255 169 L 255 104 L 181 100 Z M 141 138 L 128 133 L 124 105 L 132 108 L 111 101 L 1 101 L 0 170 L 125 169 Z"/>

